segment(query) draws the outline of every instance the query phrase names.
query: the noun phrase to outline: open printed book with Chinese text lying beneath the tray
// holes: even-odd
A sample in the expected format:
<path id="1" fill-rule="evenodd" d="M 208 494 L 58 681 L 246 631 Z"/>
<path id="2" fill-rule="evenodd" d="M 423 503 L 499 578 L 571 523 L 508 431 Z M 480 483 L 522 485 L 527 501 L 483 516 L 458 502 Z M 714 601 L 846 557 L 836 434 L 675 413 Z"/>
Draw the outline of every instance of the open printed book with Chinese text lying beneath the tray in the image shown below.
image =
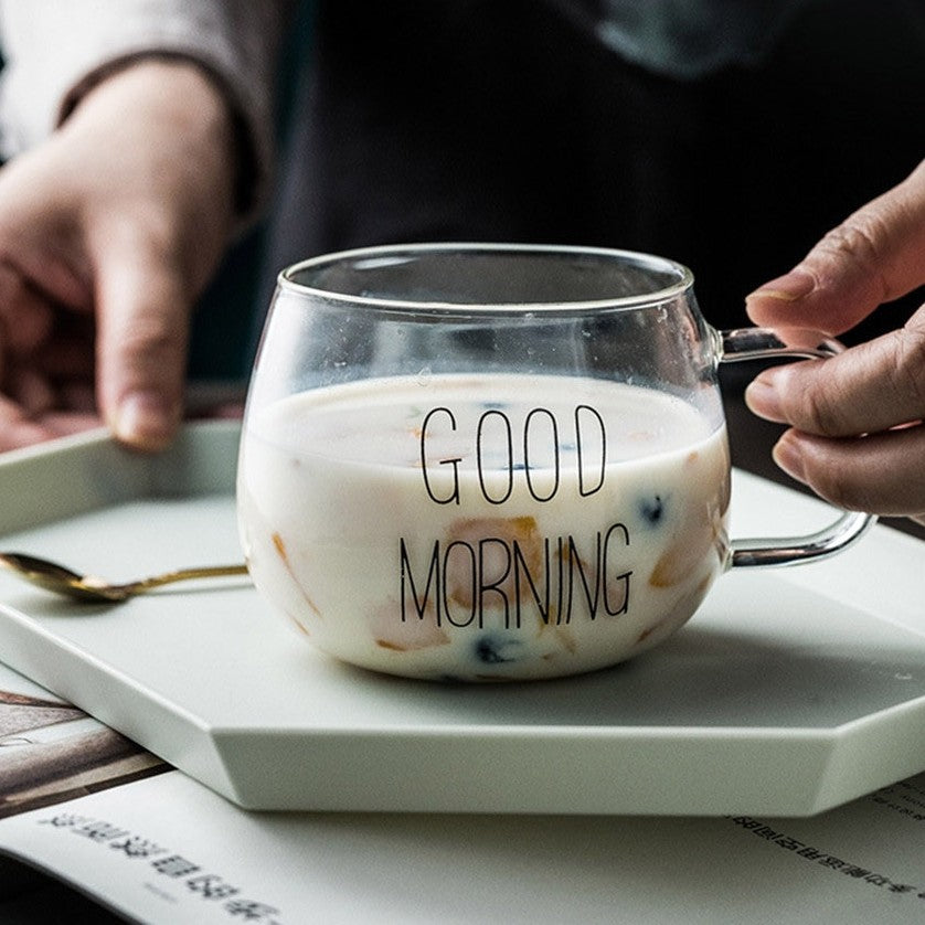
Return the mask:
<path id="1" fill-rule="evenodd" d="M 925 775 L 794 819 L 248 812 L 2 666 L 0 746 L 0 851 L 127 921 L 925 922 Z"/>

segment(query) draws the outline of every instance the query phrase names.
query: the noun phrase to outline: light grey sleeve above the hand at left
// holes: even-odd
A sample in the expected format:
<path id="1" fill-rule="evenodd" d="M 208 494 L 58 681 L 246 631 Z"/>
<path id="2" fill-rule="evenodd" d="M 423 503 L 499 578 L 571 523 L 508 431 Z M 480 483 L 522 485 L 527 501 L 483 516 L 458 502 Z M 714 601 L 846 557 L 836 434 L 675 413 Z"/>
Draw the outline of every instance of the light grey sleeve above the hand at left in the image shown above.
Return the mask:
<path id="1" fill-rule="evenodd" d="M 198 62 L 246 127 L 252 201 L 273 148 L 273 93 L 286 0 L 0 0 L 0 157 L 41 141 L 81 95 L 145 55 Z"/>

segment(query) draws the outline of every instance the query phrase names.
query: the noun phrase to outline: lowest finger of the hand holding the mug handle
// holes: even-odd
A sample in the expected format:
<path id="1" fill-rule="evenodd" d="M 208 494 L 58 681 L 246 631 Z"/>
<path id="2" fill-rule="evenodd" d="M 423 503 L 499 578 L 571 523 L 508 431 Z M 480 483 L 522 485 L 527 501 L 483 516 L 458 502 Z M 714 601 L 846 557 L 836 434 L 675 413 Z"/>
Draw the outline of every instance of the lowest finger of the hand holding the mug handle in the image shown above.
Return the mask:
<path id="1" fill-rule="evenodd" d="M 924 458 L 923 424 L 842 439 L 787 430 L 774 448 L 785 472 L 832 504 L 914 519 L 925 517 Z"/>

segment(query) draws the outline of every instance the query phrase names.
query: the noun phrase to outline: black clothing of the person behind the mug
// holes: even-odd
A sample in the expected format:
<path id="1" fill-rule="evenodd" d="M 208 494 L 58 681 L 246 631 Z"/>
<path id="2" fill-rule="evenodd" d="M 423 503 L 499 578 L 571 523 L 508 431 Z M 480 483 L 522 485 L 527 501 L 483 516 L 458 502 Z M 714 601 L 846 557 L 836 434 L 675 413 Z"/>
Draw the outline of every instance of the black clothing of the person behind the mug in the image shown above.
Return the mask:
<path id="1" fill-rule="evenodd" d="M 561 7 L 319 3 L 267 278 L 368 244 L 609 245 L 688 264 L 706 318 L 738 326 L 925 157 L 921 0 L 814 0 L 761 64 L 698 79 L 624 62 Z M 901 323 L 879 315 L 858 337 Z"/>

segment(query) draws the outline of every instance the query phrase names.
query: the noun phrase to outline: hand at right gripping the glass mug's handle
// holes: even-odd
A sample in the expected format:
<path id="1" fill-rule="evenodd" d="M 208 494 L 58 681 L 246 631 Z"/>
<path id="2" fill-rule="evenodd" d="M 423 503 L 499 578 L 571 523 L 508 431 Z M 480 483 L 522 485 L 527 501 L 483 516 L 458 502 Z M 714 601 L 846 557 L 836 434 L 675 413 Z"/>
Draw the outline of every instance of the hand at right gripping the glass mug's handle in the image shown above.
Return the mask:
<path id="1" fill-rule="evenodd" d="M 839 334 L 923 284 L 925 161 L 746 307 L 757 325 Z M 925 523 L 925 306 L 831 360 L 762 372 L 745 400 L 761 417 L 791 425 L 774 448 L 790 476 L 842 508 Z"/>

